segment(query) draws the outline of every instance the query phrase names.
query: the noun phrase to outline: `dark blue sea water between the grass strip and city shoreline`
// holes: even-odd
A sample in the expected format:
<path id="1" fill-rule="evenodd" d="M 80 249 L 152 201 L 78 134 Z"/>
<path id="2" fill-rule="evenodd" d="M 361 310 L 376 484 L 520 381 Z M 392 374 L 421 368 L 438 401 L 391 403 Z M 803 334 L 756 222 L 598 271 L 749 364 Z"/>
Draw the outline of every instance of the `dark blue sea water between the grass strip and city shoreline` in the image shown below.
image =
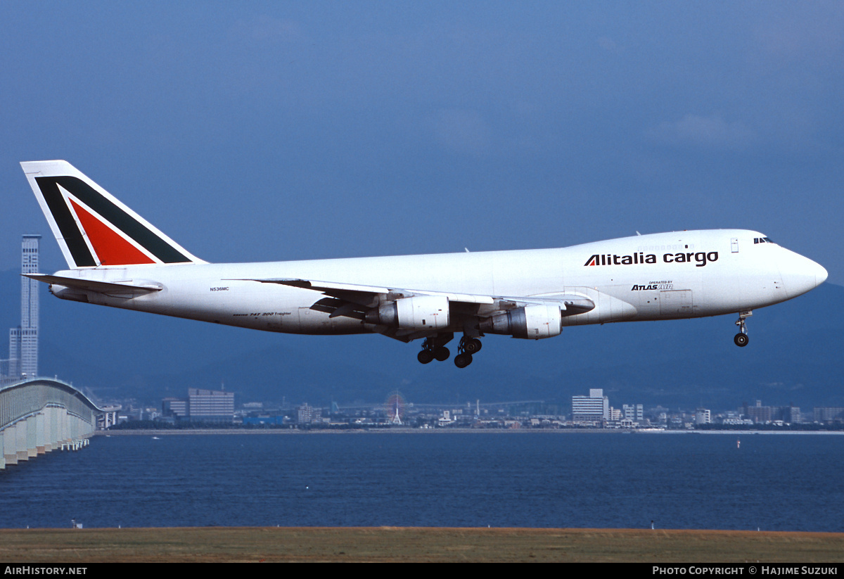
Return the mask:
<path id="1" fill-rule="evenodd" d="M 820 434 L 96 436 L 0 471 L 0 528 L 844 532 L 842 458 Z"/>

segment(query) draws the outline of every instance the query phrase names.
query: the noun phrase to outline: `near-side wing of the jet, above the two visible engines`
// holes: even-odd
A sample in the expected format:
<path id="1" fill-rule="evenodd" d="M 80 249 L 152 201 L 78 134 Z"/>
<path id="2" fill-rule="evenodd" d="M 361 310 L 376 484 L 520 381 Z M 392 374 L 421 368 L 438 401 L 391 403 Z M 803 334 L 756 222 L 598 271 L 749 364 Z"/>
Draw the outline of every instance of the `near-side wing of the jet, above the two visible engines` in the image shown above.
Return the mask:
<path id="1" fill-rule="evenodd" d="M 353 317 L 364 320 L 366 312 L 390 301 L 403 300 L 421 295 L 435 295 L 448 299 L 452 316 L 473 317 L 484 319 L 516 308 L 533 305 L 560 306 L 562 316 L 574 316 L 590 311 L 595 302 L 581 294 L 554 294 L 533 296 L 497 296 L 461 294 L 446 291 L 430 291 L 426 289 L 390 288 L 375 285 L 344 284 L 338 282 L 317 281 L 313 279 L 243 279 L 242 281 L 257 281 L 262 284 L 280 284 L 293 288 L 312 289 L 327 297 L 317 301 L 312 310 L 324 311 L 329 317 Z M 407 331 L 396 327 L 376 327 L 376 331 L 399 340 L 410 341 L 430 335 L 431 331 Z"/>

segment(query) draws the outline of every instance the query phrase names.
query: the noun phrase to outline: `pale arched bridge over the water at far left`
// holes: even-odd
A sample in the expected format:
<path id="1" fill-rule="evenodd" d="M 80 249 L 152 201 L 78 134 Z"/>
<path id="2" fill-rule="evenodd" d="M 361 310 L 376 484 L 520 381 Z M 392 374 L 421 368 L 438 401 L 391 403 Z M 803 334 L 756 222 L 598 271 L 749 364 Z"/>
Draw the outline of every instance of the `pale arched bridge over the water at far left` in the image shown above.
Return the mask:
<path id="1" fill-rule="evenodd" d="M 100 409 L 61 380 L 33 378 L 0 387 L 0 469 L 54 450 L 86 446 L 98 423 L 114 424 L 116 409 Z"/>

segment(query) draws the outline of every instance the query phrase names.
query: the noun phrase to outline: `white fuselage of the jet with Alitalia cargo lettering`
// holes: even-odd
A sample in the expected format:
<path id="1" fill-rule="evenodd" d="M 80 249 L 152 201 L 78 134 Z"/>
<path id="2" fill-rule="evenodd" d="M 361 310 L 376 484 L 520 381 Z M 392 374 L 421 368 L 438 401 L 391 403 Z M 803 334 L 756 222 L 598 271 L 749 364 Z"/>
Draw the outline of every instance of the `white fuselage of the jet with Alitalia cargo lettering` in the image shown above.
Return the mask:
<path id="1" fill-rule="evenodd" d="M 560 249 L 299 262 L 84 268 L 80 279 L 158 284 L 135 295 L 63 288 L 66 299 L 284 333 L 368 333 L 371 324 L 311 309 L 319 291 L 255 279 L 310 279 L 500 297 L 582 295 L 592 311 L 562 325 L 716 316 L 801 295 L 823 283 L 817 263 L 749 230 L 637 235 Z M 459 331 L 459 327 L 451 328 Z"/>

